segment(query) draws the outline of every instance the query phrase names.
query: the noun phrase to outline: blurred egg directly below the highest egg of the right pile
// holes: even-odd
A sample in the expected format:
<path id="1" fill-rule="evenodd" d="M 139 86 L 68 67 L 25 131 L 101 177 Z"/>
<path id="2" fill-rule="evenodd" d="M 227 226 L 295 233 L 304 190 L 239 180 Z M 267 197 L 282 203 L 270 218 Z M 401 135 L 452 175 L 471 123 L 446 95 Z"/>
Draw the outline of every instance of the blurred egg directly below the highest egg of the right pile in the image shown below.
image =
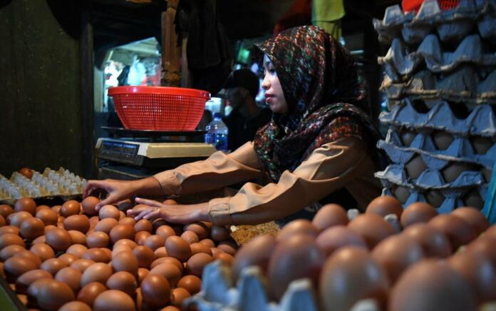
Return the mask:
<path id="1" fill-rule="evenodd" d="M 348 228 L 361 235 L 371 250 L 381 240 L 396 233 L 384 218 L 376 214 L 358 215 L 348 223 Z"/>

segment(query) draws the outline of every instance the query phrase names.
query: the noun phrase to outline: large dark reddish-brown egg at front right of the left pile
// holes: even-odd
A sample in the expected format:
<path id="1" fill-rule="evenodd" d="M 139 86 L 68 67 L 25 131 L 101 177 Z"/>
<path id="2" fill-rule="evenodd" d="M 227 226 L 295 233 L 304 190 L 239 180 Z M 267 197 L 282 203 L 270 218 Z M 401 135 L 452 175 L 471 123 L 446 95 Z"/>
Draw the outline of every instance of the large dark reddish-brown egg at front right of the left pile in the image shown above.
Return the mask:
<path id="1" fill-rule="evenodd" d="M 170 302 L 170 284 L 162 275 L 149 274 L 141 282 L 143 302 L 150 307 L 165 307 Z"/>

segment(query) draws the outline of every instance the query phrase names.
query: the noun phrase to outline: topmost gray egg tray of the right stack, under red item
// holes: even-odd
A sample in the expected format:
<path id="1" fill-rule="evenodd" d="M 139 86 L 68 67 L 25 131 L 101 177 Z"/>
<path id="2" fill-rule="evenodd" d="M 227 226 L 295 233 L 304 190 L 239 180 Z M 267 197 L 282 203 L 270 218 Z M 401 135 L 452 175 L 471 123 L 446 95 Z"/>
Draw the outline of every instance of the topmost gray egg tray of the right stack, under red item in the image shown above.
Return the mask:
<path id="1" fill-rule="evenodd" d="M 391 44 L 402 37 L 407 44 L 418 44 L 437 31 L 441 41 L 460 41 L 477 26 L 482 39 L 496 38 L 496 1 L 461 0 L 455 9 L 443 11 L 437 0 L 425 0 L 417 14 L 403 13 L 396 4 L 386 9 L 383 20 L 373 19 L 379 41 Z"/>

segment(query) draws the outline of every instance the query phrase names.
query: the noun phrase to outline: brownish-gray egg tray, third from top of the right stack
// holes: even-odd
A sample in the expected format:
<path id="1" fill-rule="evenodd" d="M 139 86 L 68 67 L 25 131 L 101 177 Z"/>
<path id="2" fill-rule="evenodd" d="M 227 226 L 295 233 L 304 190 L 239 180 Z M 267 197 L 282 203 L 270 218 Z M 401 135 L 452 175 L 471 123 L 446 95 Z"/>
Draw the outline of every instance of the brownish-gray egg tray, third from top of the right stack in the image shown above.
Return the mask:
<path id="1" fill-rule="evenodd" d="M 496 103 L 496 69 L 460 66 L 448 75 L 437 75 L 428 70 L 415 73 L 407 82 L 393 81 L 385 76 L 381 91 L 391 99 L 445 98 L 466 103 Z"/>

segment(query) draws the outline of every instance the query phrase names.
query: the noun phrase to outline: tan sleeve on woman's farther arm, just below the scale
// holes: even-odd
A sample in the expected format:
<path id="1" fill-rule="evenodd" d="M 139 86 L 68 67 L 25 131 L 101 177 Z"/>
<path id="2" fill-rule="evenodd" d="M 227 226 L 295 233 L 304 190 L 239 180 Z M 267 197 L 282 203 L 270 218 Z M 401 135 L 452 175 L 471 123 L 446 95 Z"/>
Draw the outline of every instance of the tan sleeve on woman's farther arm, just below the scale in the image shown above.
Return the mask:
<path id="1" fill-rule="evenodd" d="M 217 151 L 206 160 L 180 165 L 154 177 L 166 195 L 180 195 L 214 190 L 260 175 L 261 165 L 253 143 L 248 142 L 232 153 Z"/>

